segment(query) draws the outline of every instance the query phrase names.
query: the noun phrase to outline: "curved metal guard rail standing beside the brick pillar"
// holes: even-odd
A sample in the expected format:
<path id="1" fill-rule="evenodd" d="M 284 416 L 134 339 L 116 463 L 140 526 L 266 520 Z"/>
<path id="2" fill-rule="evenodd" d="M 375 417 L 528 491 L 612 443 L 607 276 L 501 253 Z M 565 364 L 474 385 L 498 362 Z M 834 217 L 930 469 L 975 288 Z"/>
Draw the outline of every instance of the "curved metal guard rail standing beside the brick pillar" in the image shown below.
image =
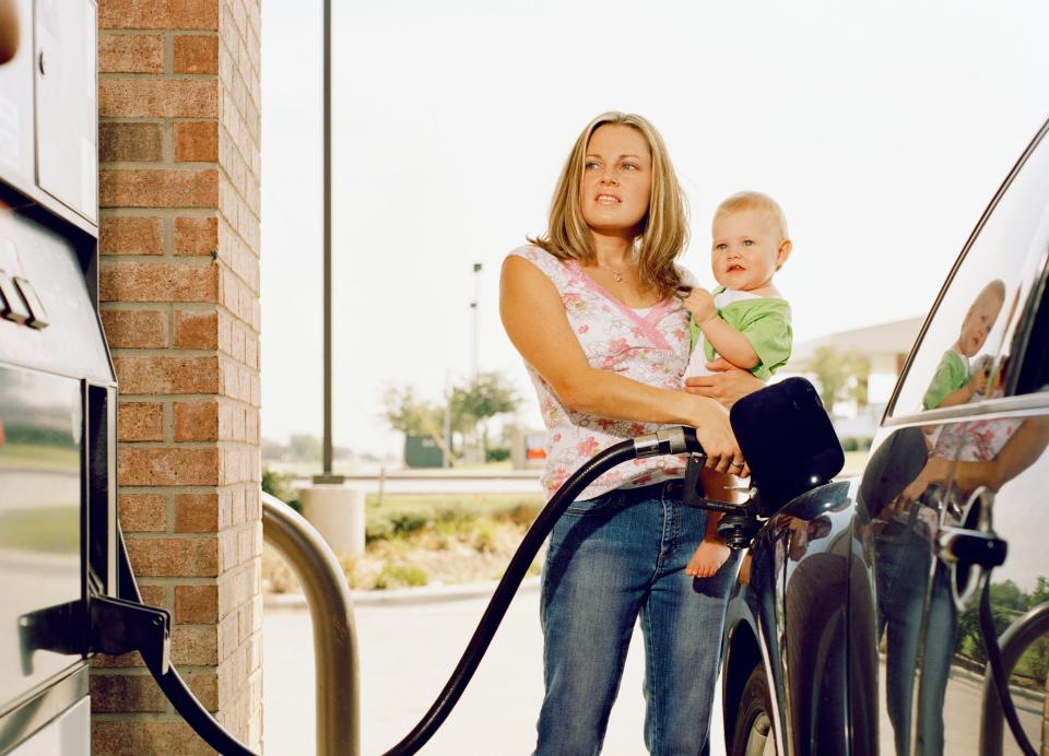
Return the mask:
<path id="1" fill-rule="evenodd" d="M 339 559 L 302 515 L 262 494 L 262 539 L 291 565 L 314 626 L 318 756 L 361 753 L 357 634 Z"/>

